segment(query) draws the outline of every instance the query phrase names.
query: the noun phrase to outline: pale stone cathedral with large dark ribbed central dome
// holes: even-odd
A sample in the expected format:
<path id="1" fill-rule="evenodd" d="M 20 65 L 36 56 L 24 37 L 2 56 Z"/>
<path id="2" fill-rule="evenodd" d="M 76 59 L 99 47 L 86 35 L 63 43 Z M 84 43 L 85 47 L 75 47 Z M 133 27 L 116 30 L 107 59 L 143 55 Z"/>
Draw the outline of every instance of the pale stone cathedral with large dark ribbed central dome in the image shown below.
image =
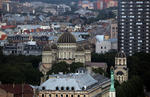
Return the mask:
<path id="1" fill-rule="evenodd" d="M 56 44 L 46 46 L 43 49 L 39 69 L 43 74 L 46 74 L 53 63 L 60 61 L 65 61 L 68 64 L 91 62 L 91 50 L 89 46 L 77 45 L 76 38 L 70 32 L 64 32 Z"/>

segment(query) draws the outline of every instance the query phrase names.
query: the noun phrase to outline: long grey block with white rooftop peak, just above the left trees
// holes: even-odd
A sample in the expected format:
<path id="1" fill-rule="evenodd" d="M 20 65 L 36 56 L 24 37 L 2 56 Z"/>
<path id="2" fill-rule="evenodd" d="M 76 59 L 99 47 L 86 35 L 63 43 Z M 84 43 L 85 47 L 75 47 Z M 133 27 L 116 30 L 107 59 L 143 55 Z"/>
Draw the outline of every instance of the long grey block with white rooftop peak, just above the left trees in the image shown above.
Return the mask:
<path id="1" fill-rule="evenodd" d="M 36 44 L 35 41 L 29 41 L 27 43 L 9 43 L 3 47 L 4 55 L 42 55 L 42 45 Z"/>

